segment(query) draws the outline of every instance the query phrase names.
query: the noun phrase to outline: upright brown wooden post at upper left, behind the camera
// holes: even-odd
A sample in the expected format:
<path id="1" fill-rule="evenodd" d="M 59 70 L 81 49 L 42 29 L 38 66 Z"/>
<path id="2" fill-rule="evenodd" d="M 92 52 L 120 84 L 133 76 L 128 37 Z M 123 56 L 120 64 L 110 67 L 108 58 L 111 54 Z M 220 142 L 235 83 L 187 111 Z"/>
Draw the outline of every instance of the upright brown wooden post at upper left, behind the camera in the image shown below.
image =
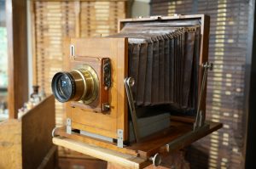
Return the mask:
<path id="1" fill-rule="evenodd" d="M 6 1 L 8 38 L 9 118 L 17 118 L 18 109 L 28 98 L 26 1 Z"/>

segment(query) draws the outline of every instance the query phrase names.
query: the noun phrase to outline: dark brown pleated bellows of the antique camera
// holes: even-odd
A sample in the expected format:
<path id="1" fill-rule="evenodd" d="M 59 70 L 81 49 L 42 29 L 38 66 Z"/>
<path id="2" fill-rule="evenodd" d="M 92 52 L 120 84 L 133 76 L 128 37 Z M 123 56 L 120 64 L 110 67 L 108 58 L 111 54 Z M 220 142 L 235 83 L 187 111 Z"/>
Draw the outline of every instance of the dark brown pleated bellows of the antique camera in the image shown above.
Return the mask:
<path id="1" fill-rule="evenodd" d="M 199 26 L 127 24 L 109 37 L 128 37 L 129 76 L 135 79 L 132 89 L 137 106 L 196 107 Z"/>

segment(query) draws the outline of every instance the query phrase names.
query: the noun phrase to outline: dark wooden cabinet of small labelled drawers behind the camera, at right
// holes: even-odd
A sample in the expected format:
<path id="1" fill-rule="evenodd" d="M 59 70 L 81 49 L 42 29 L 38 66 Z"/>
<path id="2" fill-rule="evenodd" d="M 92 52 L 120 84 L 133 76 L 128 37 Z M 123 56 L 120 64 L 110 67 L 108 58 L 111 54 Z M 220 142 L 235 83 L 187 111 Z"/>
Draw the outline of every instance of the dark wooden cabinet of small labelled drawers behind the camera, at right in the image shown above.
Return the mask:
<path id="1" fill-rule="evenodd" d="M 152 0 L 152 15 L 208 14 L 211 17 L 207 119 L 224 127 L 195 144 L 189 153 L 192 168 L 242 168 L 246 113 L 244 82 L 249 1 Z M 199 158 L 200 156 L 200 158 Z"/>

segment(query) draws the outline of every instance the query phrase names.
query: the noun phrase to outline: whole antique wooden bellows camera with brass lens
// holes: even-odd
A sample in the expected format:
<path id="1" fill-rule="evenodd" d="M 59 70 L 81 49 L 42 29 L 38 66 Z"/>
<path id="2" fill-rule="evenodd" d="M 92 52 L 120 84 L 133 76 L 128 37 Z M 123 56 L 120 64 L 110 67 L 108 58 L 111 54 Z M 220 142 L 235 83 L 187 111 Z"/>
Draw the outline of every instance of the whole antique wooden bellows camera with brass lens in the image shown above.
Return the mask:
<path id="1" fill-rule="evenodd" d="M 67 102 L 62 135 L 148 158 L 173 131 L 207 127 L 209 23 L 204 14 L 125 19 L 116 35 L 71 38 L 66 71 L 52 81 L 55 98 Z M 189 127 L 170 127 L 169 115 L 171 126 Z M 154 122 L 167 126 L 148 132 Z M 141 147 L 149 138 L 159 139 L 151 150 Z"/>

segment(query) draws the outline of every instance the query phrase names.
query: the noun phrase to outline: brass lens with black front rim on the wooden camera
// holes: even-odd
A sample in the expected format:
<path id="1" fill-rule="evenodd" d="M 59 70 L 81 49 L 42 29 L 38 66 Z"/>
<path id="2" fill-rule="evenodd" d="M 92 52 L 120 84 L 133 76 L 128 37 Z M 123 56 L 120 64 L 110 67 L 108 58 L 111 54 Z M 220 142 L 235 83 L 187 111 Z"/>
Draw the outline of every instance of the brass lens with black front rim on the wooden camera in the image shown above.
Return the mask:
<path id="1" fill-rule="evenodd" d="M 90 104 L 99 91 L 96 71 L 90 65 L 84 65 L 70 72 L 59 72 L 53 77 L 52 91 L 60 102 L 81 100 L 84 104 Z"/>

